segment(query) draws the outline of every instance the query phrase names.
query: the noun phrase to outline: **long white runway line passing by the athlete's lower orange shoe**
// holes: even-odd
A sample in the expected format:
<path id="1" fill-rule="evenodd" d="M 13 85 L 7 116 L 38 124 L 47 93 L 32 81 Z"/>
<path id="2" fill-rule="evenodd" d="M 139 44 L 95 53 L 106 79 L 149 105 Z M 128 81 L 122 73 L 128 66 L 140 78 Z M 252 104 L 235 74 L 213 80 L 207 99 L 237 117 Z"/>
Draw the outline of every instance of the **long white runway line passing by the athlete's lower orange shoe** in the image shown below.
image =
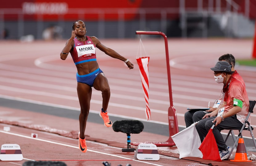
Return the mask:
<path id="1" fill-rule="evenodd" d="M 57 145 L 67 146 L 67 147 L 70 147 L 70 148 L 79 149 L 79 148 L 76 147 L 76 146 L 72 146 L 72 145 L 68 145 L 68 144 L 62 144 L 62 143 L 58 143 L 58 142 L 54 142 L 54 141 L 43 140 L 43 139 L 40 139 L 40 138 L 32 138 L 32 137 L 30 137 L 30 136 L 24 136 L 24 135 L 21 135 L 21 134 L 6 132 L 6 131 L 2 131 L 2 130 L 0 130 L 0 132 L 5 133 L 5 134 L 14 135 L 14 136 L 23 137 L 23 138 L 28 138 L 28 139 L 38 140 L 38 141 L 47 142 L 47 143 L 51 143 L 51 144 L 57 144 Z M 133 161 L 137 161 L 137 162 L 141 162 L 141 163 L 146 163 L 146 164 L 151 164 L 151 165 L 162 166 L 162 165 L 159 165 L 159 164 L 153 164 L 153 163 L 149 163 L 149 162 L 146 162 L 146 161 L 135 160 L 135 159 L 132 159 L 132 158 L 127 158 L 127 157 L 122 157 L 122 156 L 118 156 L 118 155 L 108 154 L 108 153 L 99 152 L 99 151 L 95 151 L 95 150 L 89 150 L 89 149 L 87 149 L 87 151 L 89 151 L 89 152 L 95 152 L 95 153 L 100 153 L 100 154 L 108 155 L 108 156 L 114 156 L 114 157 L 118 157 L 118 158 L 122 158 L 122 159 L 127 159 L 127 160 L 133 160 Z"/>

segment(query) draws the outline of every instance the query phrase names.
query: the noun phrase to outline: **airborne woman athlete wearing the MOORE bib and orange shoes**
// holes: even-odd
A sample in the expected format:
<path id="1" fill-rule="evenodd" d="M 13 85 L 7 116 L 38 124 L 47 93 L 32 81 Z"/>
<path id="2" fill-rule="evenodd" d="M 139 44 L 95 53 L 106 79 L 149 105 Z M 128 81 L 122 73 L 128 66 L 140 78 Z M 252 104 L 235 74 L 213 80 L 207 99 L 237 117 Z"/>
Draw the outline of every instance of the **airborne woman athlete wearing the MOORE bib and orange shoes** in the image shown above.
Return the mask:
<path id="1" fill-rule="evenodd" d="M 112 122 L 109 119 L 107 112 L 110 98 L 109 83 L 96 61 L 96 47 L 108 56 L 123 61 L 129 69 L 134 68 L 134 65 L 129 59 L 101 44 L 98 38 L 95 36 L 86 36 L 86 28 L 83 21 L 77 20 L 73 23 L 71 37 L 62 49 L 60 58 L 65 60 L 68 53 L 70 53 L 77 68 L 77 94 L 81 106 L 81 113 L 79 115 L 80 132 L 78 133 L 78 146 L 81 152 L 87 151 L 85 143 L 85 127 L 90 109 L 92 87 L 102 92 L 102 109 L 99 114 L 106 127 L 112 126 Z"/>

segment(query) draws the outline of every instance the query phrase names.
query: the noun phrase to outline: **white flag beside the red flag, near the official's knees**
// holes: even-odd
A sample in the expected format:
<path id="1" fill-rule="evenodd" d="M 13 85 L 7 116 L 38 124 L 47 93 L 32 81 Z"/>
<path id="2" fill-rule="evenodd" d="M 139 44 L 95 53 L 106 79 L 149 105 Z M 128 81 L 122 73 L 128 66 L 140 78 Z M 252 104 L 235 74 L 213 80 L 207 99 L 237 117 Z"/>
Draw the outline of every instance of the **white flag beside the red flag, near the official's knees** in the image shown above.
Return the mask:
<path id="1" fill-rule="evenodd" d="M 188 128 L 171 136 L 180 151 L 180 159 L 183 157 L 203 157 L 202 152 L 198 149 L 201 145 L 201 141 L 195 124 L 196 123 L 193 123 Z"/>

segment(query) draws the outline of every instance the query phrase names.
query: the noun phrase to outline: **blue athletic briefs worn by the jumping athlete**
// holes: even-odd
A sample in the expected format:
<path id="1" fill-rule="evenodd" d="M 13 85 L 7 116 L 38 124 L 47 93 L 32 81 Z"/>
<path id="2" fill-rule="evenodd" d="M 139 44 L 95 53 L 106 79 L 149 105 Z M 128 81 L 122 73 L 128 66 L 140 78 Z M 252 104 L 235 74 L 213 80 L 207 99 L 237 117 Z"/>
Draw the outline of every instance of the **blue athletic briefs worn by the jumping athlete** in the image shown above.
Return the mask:
<path id="1" fill-rule="evenodd" d="M 92 73 L 85 75 L 79 75 L 78 73 L 76 73 L 76 80 L 77 82 L 81 82 L 93 87 L 94 80 L 99 73 L 103 73 L 103 71 L 100 68 L 94 70 Z"/>

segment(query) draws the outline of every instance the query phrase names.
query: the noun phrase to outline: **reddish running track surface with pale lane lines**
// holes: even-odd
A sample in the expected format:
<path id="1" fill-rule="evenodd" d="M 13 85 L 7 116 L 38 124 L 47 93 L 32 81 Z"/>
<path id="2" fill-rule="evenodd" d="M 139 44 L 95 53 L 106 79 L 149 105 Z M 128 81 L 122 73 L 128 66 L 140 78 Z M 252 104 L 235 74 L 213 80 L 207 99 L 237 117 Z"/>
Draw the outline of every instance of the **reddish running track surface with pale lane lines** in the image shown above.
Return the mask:
<path id="1" fill-rule="evenodd" d="M 79 110 L 75 65 L 70 55 L 66 61 L 62 61 L 59 56 L 65 42 L 1 41 L 0 97 Z M 129 70 L 122 61 L 108 57 L 97 50 L 97 61 L 107 76 L 111 89 L 108 108 L 110 117 L 139 118 L 139 120 L 145 121 L 145 101 L 135 60 L 138 39 L 113 39 L 101 40 L 101 42 L 134 63 L 134 69 Z M 150 56 L 149 106 L 152 122 L 165 125 L 168 124 L 167 111 L 170 102 L 164 41 L 150 38 L 142 39 L 142 42 Z M 232 53 L 236 59 L 250 58 L 252 45 L 253 41 L 249 39 L 168 40 L 173 105 L 180 127 L 185 126 L 186 108 L 206 108 L 209 101 L 213 105 L 215 99 L 220 95 L 222 85 L 214 81 L 213 72 L 209 69 L 216 64 L 218 57 L 225 53 Z M 142 56 L 145 54 L 143 53 Z M 236 64 L 235 69 L 246 82 L 249 99 L 256 100 L 256 68 Z M 40 128 L 49 128 L 49 130 L 73 131 L 72 133 L 76 136 L 79 129 L 78 120 L 6 107 L 0 107 L 0 109 L 1 120 L 5 123 L 15 121 L 28 127 L 11 125 L 10 132 L 4 132 L 1 128 L 8 124 L 0 125 L 1 143 L 19 144 L 24 157 L 22 161 L 18 162 L 0 161 L 0 165 L 22 165 L 27 160 L 64 160 L 69 166 L 103 165 L 101 163 L 105 160 L 112 166 L 126 165 L 127 163 L 131 165 L 149 165 L 150 163 L 155 165 L 200 165 L 199 162 L 179 160 L 170 155 L 161 155 L 159 161 L 134 160 L 134 152 L 127 153 L 121 150 L 122 147 L 126 148 L 126 134 L 114 132 L 112 128 L 106 128 L 103 124 L 96 123 L 87 124 L 88 152 L 84 154 L 78 149 L 77 139 L 29 128 L 31 126 L 36 128 L 35 125 L 37 125 Z M 96 113 L 100 109 L 101 93 L 93 90 L 91 112 Z M 255 127 L 254 114 L 251 116 L 251 124 Z M 31 137 L 32 132 L 38 133 L 38 139 Z M 243 132 L 243 136 L 250 137 L 249 132 Z M 167 136 L 147 132 L 131 136 L 132 142 L 155 142 L 167 139 Z M 177 152 L 175 147 L 159 148 L 159 150 Z M 224 163 L 227 165 L 230 164 L 230 161 Z M 231 162 L 231 164 L 233 163 Z"/>

